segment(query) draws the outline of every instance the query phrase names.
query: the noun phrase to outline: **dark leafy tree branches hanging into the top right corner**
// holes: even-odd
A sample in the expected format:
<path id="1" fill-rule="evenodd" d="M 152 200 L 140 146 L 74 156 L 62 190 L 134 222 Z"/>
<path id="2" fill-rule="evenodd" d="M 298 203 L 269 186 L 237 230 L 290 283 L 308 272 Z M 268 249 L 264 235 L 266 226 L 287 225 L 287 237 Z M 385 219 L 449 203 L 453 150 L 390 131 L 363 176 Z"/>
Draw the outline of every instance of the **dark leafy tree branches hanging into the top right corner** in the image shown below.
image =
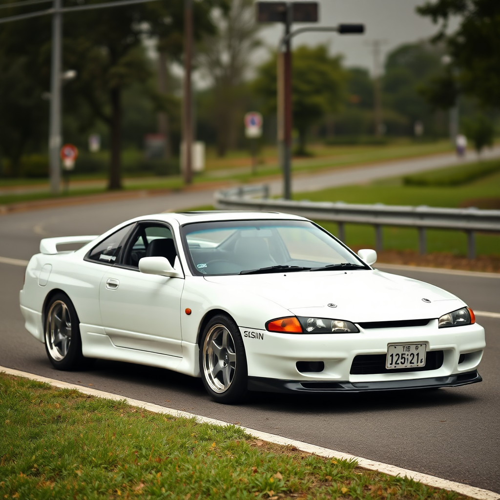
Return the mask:
<path id="1" fill-rule="evenodd" d="M 443 40 L 460 90 L 483 106 L 500 107 L 500 2 L 498 0 L 437 0 L 417 12 L 440 23 L 434 40 Z M 446 34 L 451 16 L 460 17 L 458 29 Z"/>

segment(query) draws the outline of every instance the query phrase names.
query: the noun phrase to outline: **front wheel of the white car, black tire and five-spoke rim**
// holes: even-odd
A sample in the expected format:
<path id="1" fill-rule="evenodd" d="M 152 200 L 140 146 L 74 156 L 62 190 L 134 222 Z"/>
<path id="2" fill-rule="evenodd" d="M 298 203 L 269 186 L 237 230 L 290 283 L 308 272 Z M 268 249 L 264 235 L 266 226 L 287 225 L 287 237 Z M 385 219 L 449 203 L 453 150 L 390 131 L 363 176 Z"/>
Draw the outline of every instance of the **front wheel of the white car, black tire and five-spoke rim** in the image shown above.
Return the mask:
<path id="1" fill-rule="evenodd" d="M 224 331 L 225 345 L 222 341 Z M 203 385 L 215 401 L 232 404 L 245 398 L 248 390 L 245 347 L 239 328 L 230 316 L 217 314 L 203 329 L 199 342 L 199 369 Z"/>

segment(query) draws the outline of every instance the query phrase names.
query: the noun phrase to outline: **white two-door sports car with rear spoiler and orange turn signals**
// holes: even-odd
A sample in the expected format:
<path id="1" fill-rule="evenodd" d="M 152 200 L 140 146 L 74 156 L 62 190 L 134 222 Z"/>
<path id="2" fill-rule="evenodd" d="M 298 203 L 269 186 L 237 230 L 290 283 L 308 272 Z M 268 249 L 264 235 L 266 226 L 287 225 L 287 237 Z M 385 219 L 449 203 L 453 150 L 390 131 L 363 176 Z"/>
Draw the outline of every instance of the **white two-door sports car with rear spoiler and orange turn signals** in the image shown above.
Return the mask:
<path id="1" fill-rule="evenodd" d="M 42 239 L 40 252 L 20 306 L 58 369 L 159 366 L 201 376 L 220 402 L 481 381 L 484 329 L 462 300 L 374 269 L 373 250 L 356 255 L 303 217 L 160 213 Z"/>

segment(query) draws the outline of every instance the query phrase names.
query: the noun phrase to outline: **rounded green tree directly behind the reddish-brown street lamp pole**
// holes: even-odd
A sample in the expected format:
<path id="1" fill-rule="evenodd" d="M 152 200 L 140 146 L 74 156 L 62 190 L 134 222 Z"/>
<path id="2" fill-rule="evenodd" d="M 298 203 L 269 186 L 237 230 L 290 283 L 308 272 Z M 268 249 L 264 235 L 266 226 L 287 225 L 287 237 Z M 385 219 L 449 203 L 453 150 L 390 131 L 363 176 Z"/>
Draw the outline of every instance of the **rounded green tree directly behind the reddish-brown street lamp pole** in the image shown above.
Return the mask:
<path id="1" fill-rule="evenodd" d="M 340 108 L 348 79 L 340 55 L 330 56 L 326 45 L 301 45 L 292 53 L 292 115 L 298 130 L 298 154 L 305 154 L 311 125 Z M 276 110 L 276 54 L 258 68 L 255 91 L 267 112 Z"/>

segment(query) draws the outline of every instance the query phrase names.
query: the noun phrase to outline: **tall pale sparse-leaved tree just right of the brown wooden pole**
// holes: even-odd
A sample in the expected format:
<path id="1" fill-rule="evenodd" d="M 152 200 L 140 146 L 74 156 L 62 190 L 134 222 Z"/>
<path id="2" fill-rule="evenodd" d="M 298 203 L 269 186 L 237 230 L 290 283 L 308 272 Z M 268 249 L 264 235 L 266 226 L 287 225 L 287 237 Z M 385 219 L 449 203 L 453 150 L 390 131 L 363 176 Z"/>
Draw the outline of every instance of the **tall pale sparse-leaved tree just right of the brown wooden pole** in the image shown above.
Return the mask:
<path id="1" fill-rule="evenodd" d="M 213 83 L 217 153 L 224 156 L 236 142 L 236 122 L 242 115 L 249 58 L 260 45 L 253 0 L 231 0 L 227 12 L 218 11 L 215 23 L 218 31 L 204 39 L 197 59 Z"/>

